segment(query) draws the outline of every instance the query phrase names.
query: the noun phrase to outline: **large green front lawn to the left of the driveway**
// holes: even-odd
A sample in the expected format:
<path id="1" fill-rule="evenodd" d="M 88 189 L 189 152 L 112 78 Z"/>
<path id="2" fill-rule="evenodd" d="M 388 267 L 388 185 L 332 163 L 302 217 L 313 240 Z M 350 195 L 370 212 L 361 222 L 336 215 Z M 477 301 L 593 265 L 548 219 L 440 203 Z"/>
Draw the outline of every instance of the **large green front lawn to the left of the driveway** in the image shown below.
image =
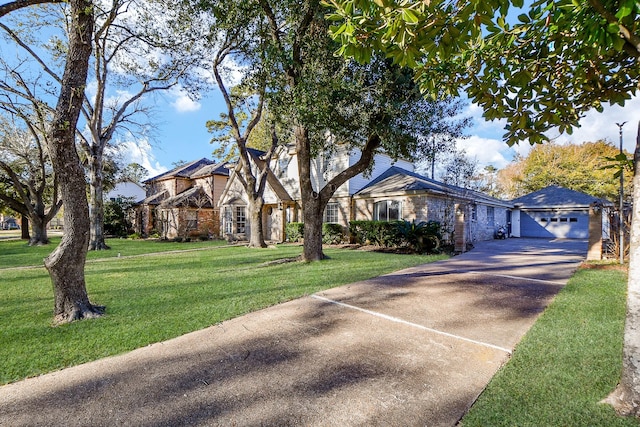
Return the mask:
<path id="1" fill-rule="evenodd" d="M 7 243 L 0 242 L 0 258 L 7 247 L 13 247 Z M 119 247 L 109 242 L 123 254 L 142 250 L 137 245 L 144 242 L 122 243 Z M 146 243 L 151 252 L 163 247 Z M 31 249 L 22 246 L 23 251 Z M 167 340 L 321 289 L 444 258 L 328 249 L 330 259 L 322 262 L 265 265 L 300 252 L 299 246 L 288 245 L 261 250 L 228 247 L 88 263 L 89 296 L 92 302 L 107 306 L 106 316 L 55 328 L 51 327 L 51 282 L 44 268 L 0 270 L 0 384 Z M 31 264 L 27 256 L 14 256 Z"/>

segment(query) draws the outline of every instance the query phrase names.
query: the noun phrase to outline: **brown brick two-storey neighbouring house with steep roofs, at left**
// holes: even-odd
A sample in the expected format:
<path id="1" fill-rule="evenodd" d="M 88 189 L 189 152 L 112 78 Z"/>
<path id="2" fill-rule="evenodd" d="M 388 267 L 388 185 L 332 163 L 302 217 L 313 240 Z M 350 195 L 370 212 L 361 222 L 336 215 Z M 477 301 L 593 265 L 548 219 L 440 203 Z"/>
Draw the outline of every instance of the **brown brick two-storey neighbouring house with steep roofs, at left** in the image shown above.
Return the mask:
<path id="1" fill-rule="evenodd" d="M 229 178 L 226 163 L 200 159 L 146 180 L 136 208 L 137 232 L 163 238 L 218 236 L 218 200 Z"/>

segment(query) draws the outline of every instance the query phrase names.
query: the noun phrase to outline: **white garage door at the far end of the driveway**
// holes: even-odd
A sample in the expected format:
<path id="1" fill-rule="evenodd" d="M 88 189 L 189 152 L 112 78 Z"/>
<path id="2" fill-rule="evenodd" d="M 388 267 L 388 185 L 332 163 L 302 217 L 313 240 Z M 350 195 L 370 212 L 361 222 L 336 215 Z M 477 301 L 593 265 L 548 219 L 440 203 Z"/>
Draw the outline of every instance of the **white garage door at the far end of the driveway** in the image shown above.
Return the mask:
<path id="1" fill-rule="evenodd" d="M 527 211 L 520 216 L 522 237 L 560 237 L 586 239 L 589 237 L 587 211 L 545 212 Z"/>

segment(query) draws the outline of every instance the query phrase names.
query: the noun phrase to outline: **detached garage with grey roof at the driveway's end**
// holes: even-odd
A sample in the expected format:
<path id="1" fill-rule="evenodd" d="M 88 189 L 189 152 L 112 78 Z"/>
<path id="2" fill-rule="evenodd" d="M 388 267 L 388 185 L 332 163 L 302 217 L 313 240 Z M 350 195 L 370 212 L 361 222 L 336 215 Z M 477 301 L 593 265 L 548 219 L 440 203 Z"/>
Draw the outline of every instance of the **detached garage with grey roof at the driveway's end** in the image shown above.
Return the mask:
<path id="1" fill-rule="evenodd" d="M 512 203 L 514 236 L 565 239 L 589 237 L 592 204 L 612 206 L 606 200 L 555 185 L 514 199 Z"/>

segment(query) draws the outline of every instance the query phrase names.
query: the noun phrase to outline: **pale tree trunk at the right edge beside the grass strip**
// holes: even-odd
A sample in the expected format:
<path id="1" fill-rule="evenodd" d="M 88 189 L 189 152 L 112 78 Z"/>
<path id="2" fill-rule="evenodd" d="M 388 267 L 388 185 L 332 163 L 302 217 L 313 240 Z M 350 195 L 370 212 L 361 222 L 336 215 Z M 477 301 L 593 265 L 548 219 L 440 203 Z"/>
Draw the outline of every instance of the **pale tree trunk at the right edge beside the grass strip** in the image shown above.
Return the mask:
<path id="1" fill-rule="evenodd" d="M 634 153 L 633 215 L 629 246 L 627 318 L 622 354 L 622 377 L 607 397 L 620 415 L 640 416 L 640 123 Z"/>

